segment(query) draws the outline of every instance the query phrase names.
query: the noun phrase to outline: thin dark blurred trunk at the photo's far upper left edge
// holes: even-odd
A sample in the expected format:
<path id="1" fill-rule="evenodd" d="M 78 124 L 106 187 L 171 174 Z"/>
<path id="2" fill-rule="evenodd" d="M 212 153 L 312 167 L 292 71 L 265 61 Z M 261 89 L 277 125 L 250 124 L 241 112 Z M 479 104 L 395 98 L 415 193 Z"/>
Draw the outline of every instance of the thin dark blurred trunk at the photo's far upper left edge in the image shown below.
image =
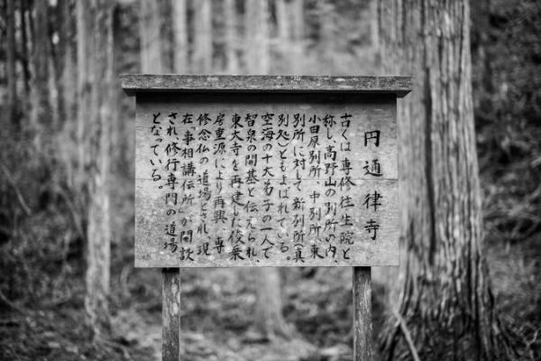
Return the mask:
<path id="1" fill-rule="evenodd" d="M 15 75 L 15 5 L 14 0 L 7 0 L 6 16 L 6 55 L 7 55 L 7 114 L 14 124 L 17 115 L 17 78 Z M 4 125 L 5 126 L 5 125 Z"/>

